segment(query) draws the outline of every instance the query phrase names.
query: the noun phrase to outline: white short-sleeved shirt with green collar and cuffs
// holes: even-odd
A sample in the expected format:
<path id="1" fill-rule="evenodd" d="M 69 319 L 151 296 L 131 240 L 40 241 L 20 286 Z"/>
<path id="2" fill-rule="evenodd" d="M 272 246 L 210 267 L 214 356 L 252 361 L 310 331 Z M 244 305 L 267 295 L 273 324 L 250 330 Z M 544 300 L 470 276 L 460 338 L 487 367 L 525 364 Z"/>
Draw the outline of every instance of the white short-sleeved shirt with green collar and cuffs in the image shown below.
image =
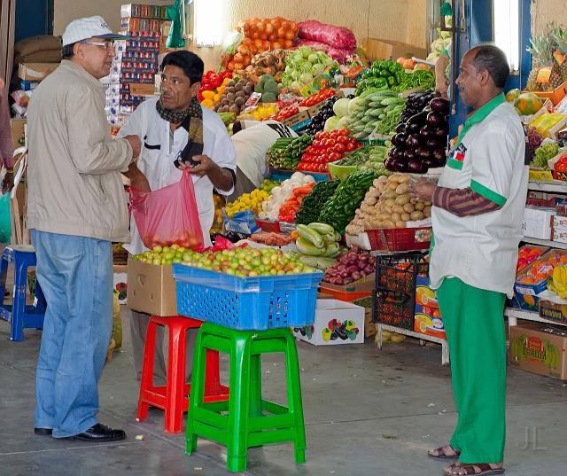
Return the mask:
<path id="1" fill-rule="evenodd" d="M 463 217 L 432 208 L 431 287 L 438 288 L 445 277 L 458 277 L 510 296 L 527 195 L 524 129 L 514 108 L 499 96 L 470 117 L 464 132 L 439 186 L 470 187 L 501 208 Z"/>

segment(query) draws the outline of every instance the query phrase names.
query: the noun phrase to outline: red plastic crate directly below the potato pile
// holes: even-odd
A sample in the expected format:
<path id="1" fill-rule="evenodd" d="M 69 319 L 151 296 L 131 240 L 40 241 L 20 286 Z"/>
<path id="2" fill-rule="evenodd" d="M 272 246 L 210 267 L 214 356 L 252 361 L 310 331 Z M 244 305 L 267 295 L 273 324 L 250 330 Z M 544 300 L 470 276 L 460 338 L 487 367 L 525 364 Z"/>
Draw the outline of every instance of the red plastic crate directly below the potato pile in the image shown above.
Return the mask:
<path id="1" fill-rule="evenodd" d="M 378 251 L 426 250 L 431 245 L 431 226 L 366 230 L 370 247 Z"/>

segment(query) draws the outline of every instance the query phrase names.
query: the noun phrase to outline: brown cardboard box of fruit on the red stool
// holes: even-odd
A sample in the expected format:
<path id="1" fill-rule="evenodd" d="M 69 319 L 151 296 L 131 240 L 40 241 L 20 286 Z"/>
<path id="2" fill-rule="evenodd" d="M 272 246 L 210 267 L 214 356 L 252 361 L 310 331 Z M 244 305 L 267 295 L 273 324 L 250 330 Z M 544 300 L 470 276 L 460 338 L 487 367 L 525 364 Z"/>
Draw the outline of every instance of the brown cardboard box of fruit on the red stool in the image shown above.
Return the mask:
<path id="1" fill-rule="evenodd" d="M 177 316 L 171 266 L 128 260 L 128 308 L 154 316 Z"/>

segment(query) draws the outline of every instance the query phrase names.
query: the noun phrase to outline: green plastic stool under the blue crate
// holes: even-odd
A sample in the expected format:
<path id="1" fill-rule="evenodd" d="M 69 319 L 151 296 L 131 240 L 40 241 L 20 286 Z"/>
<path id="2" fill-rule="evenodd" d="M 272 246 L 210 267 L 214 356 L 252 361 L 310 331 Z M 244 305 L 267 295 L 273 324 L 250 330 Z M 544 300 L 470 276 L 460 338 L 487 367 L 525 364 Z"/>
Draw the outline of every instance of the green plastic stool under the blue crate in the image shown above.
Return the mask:
<path id="1" fill-rule="evenodd" d="M 230 355 L 228 402 L 204 402 L 206 350 Z M 285 354 L 289 408 L 261 397 L 260 355 Z M 227 469 L 246 469 L 249 448 L 293 442 L 295 462 L 305 463 L 305 425 L 301 402 L 298 352 L 291 331 L 235 331 L 204 323 L 195 343 L 187 414 L 187 454 L 197 449 L 198 437 L 227 447 Z"/>

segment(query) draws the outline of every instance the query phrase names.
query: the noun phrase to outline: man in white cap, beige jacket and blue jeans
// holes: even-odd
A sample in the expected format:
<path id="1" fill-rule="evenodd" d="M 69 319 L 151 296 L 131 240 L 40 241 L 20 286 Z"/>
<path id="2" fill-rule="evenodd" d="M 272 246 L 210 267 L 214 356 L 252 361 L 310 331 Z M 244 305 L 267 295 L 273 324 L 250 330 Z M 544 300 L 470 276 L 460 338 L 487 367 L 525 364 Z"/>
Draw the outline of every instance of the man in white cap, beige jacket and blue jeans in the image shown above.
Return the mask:
<path id="1" fill-rule="evenodd" d="M 72 21 L 61 66 L 29 103 L 27 225 L 47 300 L 36 371 L 35 433 L 126 438 L 97 420 L 97 382 L 113 325 L 112 242 L 128 240 L 120 178 L 139 137 L 110 137 L 105 89 L 118 38 L 101 17 Z"/>

